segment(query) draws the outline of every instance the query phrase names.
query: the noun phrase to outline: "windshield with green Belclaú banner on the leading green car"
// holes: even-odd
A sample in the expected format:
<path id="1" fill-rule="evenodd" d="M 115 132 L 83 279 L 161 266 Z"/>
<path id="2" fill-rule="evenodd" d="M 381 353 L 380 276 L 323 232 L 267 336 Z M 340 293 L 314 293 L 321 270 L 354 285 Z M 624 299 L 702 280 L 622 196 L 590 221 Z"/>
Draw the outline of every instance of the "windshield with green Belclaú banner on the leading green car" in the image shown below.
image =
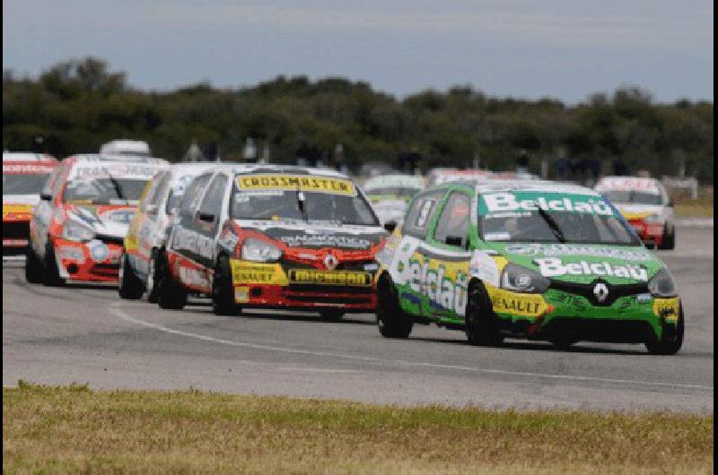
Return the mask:
<path id="1" fill-rule="evenodd" d="M 482 195 L 479 236 L 487 242 L 639 246 L 640 240 L 599 196 L 497 193 Z"/>

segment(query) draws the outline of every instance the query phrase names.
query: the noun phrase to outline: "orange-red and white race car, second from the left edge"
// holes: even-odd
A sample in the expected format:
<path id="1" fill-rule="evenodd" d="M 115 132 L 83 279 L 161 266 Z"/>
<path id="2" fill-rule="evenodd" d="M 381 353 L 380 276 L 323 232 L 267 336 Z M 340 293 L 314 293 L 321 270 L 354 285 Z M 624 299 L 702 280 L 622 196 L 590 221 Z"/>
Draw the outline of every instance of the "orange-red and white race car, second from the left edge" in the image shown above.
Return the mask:
<path id="1" fill-rule="evenodd" d="M 78 155 L 48 178 L 30 225 L 25 277 L 33 283 L 115 284 L 127 227 L 161 159 Z"/>

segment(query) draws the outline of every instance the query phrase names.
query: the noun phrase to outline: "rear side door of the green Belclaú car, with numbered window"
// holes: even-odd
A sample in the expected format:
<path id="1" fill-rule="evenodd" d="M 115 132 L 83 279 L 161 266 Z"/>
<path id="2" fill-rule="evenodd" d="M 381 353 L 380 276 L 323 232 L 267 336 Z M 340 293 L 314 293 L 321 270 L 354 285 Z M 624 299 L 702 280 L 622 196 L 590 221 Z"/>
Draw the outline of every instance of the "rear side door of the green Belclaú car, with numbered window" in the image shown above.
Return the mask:
<path id="1" fill-rule="evenodd" d="M 411 315 L 423 315 L 427 298 L 424 244 L 446 190 L 416 194 L 408 206 L 401 227 L 401 239 L 389 264 L 391 280 L 398 291 L 402 309 Z"/>

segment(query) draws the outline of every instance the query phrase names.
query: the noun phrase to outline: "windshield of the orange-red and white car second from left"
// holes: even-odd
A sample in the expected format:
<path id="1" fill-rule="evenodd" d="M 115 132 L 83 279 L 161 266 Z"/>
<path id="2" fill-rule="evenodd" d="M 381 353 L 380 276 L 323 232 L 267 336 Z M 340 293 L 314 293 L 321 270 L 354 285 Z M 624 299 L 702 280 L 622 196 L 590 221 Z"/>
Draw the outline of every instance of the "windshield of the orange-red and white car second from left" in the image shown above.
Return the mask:
<path id="1" fill-rule="evenodd" d="M 146 179 L 97 177 L 69 182 L 63 195 L 66 203 L 92 204 L 137 203 L 147 185 Z"/>

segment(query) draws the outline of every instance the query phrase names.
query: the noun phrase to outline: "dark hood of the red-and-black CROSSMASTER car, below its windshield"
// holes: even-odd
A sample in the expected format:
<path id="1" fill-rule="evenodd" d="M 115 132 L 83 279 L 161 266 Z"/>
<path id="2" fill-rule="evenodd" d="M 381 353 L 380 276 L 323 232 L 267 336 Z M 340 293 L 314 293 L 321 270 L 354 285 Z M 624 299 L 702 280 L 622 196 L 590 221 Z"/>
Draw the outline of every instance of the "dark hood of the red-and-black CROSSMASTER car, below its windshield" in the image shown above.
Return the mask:
<path id="1" fill-rule="evenodd" d="M 366 250 L 378 244 L 381 238 L 386 236 L 386 231 L 379 226 L 330 224 L 326 221 L 235 220 L 235 222 L 241 229 L 256 230 L 290 247 Z"/>

